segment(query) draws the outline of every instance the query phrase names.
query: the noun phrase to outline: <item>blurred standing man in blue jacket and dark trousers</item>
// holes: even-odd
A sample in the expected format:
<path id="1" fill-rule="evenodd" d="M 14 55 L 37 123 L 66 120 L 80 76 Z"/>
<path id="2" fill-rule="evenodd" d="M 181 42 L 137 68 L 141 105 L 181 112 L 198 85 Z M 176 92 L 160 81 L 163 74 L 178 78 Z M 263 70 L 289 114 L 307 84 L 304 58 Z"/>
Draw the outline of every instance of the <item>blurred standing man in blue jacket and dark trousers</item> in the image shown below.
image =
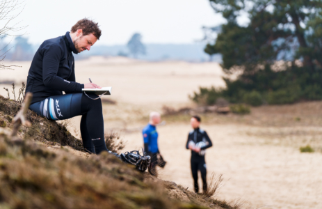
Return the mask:
<path id="1" fill-rule="evenodd" d="M 149 124 L 147 124 L 142 130 L 144 150 L 147 153 L 147 155 L 151 156 L 151 165 L 150 165 L 149 171 L 153 175 L 157 175 L 156 165 L 158 164 L 158 155 L 159 155 L 159 158 L 163 159 L 160 154 L 159 146 L 158 146 L 159 134 L 158 132 L 156 132 L 156 125 L 158 125 L 160 121 L 161 121 L 160 114 L 156 111 L 152 111 L 150 113 Z M 164 161 L 163 163 L 165 164 Z"/>

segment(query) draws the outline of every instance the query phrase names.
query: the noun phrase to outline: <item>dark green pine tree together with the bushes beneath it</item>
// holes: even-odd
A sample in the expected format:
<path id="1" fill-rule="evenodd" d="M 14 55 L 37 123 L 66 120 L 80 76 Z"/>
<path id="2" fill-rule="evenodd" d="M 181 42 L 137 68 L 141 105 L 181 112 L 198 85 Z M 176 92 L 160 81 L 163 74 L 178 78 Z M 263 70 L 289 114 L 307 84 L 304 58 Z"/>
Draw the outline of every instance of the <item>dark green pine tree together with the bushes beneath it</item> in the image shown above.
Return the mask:
<path id="1" fill-rule="evenodd" d="M 214 104 L 223 97 L 252 106 L 290 104 L 322 99 L 322 1 L 209 0 L 227 20 L 214 45 L 204 52 L 220 53 L 227 88 L 200 88 L 192 99 Z M 237 19 L 248 14 L 249 23 Z M 280 61 L 280 62 L 277 62 Z"/>

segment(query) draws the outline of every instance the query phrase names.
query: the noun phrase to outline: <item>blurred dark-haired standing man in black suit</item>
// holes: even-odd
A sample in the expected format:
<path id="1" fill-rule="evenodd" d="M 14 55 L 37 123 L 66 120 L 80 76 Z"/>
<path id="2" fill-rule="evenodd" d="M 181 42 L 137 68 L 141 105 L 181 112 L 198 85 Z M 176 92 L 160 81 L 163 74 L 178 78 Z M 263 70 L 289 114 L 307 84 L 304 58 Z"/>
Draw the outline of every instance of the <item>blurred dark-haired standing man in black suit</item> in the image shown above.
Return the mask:
<path id="1" fill-rule="evenodd" d="M 189 132 L 188 140 L 186 141 L 186 148 L 191 150 L 191 173 L 193 175 L 195 193 L 199 192 L 198 170 L 201 173 L 202 188 L 204 191 L 207 191 L 207 167 L 204 155 L 206 154 L 206 149 L 212 146 L 207 132 L 199 127 L 200 122 L 201 119 L 199 116 L 193 116 L 191 118 L 190 123 L 193 130 Z"/>

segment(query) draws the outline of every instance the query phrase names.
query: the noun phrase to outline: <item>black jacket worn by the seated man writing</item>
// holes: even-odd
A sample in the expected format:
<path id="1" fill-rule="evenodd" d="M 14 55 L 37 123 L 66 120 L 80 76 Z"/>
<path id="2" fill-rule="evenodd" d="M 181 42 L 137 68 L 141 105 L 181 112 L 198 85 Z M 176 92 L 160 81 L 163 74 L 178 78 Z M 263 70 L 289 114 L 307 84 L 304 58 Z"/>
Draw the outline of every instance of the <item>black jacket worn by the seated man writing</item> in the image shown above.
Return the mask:
<path id="1" fill-rule="evenodd" d="M 26 92 L 33 93 L 31 104 L 53 95 L 81 92 L 84 84 L 75 82 L 74 47 L 69 32 L 45 40 L 40 45 L 29 69 Z"/>

